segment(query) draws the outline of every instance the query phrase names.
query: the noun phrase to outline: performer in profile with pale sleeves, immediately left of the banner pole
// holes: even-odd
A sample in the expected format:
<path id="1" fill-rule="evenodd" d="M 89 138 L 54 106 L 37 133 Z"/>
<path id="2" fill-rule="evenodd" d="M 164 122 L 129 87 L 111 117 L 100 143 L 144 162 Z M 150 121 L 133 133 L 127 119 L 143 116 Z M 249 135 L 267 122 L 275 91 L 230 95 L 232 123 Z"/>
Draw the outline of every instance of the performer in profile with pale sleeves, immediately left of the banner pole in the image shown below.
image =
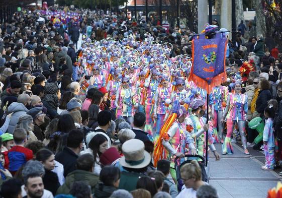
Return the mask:
<path id="1" fill-rule="evenodd" d="M 189 132 L 191 137 L 194 138 L 196 144 L 197 155 L 206 155 L 206 136 L 208 136 L 208 145 L 211 151 L 214 153 L 216 160 L 220 159 L 218 152 L 214 146 L 214 138 L 212 136 L 213 127 L 212 124 L 206 124 L 205 114 L 205 102 L 200 98 L 194 98 L 190 106 L 192 114 L 186 119 L 186 128 L 190 128 Z"/>

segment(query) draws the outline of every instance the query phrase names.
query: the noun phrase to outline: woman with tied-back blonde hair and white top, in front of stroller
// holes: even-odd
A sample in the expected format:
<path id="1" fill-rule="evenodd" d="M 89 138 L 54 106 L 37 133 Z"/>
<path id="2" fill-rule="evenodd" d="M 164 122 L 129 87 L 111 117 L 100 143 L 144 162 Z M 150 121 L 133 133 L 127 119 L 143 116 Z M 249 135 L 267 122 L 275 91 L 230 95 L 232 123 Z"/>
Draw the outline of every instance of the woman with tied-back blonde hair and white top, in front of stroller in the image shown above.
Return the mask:
<path id="1" fill-rule="evenodd" d="M 181 179 L 185 188 L 176 196 L 176 198 L 196 197 L 197 190 L 202 185 L 207 185 L 202 181 L 202 169 L 197 160 L 192 160 L 180 168 Z"/>

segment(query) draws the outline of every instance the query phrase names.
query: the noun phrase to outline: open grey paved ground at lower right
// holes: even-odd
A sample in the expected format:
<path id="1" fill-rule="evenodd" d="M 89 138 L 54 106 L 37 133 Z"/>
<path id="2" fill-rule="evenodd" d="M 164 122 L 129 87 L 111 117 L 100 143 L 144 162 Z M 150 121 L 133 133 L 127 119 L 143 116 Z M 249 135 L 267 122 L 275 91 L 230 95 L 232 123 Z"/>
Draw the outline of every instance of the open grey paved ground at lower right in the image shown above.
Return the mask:
<path id="1" fill-rule="evenodd" d="M 221 144 L 215 144 L 221 154 Z M 233 144 L 233 155 L 221 155 L 220 161 L 210 159 L 210 184 L 220 198 L 266 198 L 267 191 L 282 180 L 274 171 L 261 170 L 264 154 L 251 148 L 246 156 L 239 145 Z"/>

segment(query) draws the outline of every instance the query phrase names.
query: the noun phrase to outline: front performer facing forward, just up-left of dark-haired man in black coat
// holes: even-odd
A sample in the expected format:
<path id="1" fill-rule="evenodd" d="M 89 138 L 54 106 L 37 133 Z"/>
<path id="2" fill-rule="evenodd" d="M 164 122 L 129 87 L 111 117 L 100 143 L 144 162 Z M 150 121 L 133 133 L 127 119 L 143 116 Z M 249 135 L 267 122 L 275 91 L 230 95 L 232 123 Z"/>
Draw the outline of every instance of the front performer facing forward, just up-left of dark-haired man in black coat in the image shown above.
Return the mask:
<path id="1" fill-rule="evenodd" d="M 136 91 L 129 87 L 129 77 L 123 77 L 122 86 L 118 89 L 115 101 L 117 107 L 117 118 L 122 117 L 133 123 L 134 109 L 138 106 Z"/>

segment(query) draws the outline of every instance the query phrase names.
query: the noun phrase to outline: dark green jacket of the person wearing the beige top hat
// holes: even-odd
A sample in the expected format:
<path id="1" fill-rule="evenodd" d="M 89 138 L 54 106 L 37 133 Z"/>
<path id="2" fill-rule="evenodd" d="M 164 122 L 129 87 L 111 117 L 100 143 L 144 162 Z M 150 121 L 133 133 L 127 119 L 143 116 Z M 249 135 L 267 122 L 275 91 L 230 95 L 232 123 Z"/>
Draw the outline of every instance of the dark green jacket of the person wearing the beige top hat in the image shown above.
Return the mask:
<path id="1" fill-rule="evenodd" d="M 140 176 L 143 176 L 143 174 L 122 171 L 119 189 L 125 189 L 129 192 L 135 190 Z"/>

